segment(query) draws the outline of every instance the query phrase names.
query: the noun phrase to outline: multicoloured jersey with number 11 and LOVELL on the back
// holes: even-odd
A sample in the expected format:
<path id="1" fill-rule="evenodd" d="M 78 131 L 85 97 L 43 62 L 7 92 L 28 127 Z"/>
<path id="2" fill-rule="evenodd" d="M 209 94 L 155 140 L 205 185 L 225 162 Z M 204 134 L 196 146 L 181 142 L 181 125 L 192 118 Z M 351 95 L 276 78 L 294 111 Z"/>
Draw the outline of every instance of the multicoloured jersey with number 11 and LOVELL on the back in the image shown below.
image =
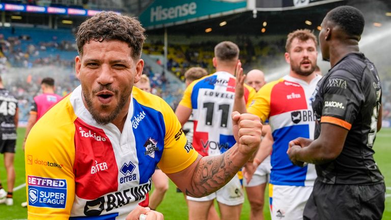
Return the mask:
<path id="1" fill-rule="evenodd" d="M 179 103 L 192 109 L 193 147 L 201 155 L 220 155 L 235 143 L 232 132 L 236 78 L 228 72 L 216 72 L 193 81 Z M 246 103 L 255 96 L 255 90 L 244 89 Z"/>

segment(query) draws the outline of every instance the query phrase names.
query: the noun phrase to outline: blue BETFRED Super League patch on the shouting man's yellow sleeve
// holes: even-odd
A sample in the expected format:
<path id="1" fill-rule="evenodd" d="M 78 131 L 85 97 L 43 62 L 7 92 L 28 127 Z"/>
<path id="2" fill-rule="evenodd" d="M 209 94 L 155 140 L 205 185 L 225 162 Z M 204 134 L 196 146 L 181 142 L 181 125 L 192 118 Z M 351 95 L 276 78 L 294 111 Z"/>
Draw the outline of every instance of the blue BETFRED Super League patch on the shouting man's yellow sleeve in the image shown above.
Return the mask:
<path id="1" fill-rule="evenodd" d="M 27 176 L 29 205 L 35 207 L 65 208 L 67 181 L 38 176 Z"/>

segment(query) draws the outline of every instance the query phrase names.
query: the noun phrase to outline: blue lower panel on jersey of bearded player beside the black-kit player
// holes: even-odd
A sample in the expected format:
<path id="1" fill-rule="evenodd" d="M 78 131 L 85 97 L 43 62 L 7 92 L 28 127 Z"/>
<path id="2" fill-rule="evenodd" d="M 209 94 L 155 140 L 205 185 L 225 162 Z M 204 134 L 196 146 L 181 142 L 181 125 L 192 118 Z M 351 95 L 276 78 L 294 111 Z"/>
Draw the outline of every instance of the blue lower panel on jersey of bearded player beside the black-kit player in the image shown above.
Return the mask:
<path id="1" fill-rule="evenodd" d="M 310 137 L 309 125 L 294 125 L 273 131 L 273 164 L 270 183 L 274 185 L 304 186 L 307 167 L 295 166 L 287 154 L 288 143 L 297 137 Z"/>

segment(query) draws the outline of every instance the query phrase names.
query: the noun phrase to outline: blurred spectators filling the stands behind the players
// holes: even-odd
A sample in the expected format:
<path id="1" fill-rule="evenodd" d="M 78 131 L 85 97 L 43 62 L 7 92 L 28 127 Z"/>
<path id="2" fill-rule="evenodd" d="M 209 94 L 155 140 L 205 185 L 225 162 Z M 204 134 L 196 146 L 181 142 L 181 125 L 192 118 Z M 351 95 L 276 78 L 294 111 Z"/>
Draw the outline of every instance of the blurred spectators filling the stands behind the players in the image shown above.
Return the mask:
<path id="1" fill-rule="evenodd" d="M 25 122 L 29 116 L 32 97 L 39 93 L 39 82 L 43 77 L 55 75 L 54 78 L 59 82 L 56 85 L 59 95 L 68 94 L 79 84 L 73 71 L 77 47 L 75 42 L 64 40 L 64 38 L 59 39 L 55 34 L 50 36 L 51 40 L 41 41 L 35 39 L 37 37 L 34 34 L 18 34 L 20 31 L 15 33 L 14 29 L 10 29 L 10 32 L 11 35 L 8 33 L 7 37 L 0 32 L 0 74 L 6 76 L 4 77 L 6 86 L 19 99 L 20 121 Z M 68 38 L 71 38 L 72 32 L 69 31 L 68 35 Z M 162 57 L 163 42 L 153 36 L 151 39 L 145 43 L 143 53 Z M 238 36 L 235 41 L 241 48 L 240 59 L 244 72 L 250 69 L 263 69 L 267 73 L 268 68 L 281 63 L 282 54 L 285 51 L 283 37 L 269 41 L 255 41 L 248 37 Z M 212 58 L 215 44 L 214 40 L 170 44 L 167 49 L 167 69 L 182 81 L 184 81 L 184 73 L 190 67 L 202 67 L 209 73 L 214 72 Z M 164 66 L 162 60 L 156 59 L 156 63 L 161 67 Z M 169 80 L 164 71 L 153 72 L 148 63 L 143 73 L 151 80 L 152 93 L 162 97 L 175 109 L 183 95 L 183 86 Z M 389 92 L 391 77 L 386 75 L 382 83 L 384 88 L 383 119 L 391 121 L 391 93 Z"/>

